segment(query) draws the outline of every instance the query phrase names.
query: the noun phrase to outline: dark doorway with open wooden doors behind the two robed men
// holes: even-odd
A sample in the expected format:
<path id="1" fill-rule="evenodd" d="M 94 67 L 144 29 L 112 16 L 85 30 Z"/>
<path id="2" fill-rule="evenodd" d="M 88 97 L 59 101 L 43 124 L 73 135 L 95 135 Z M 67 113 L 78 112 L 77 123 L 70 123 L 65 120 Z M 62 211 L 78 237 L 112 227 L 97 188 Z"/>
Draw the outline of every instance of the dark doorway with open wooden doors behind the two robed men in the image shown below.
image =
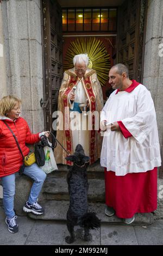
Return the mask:
<path id="1" fill-rule="evenodd" d="M 63 63 L 68 44 L 76 37 L 96 36 L 102 40 L 106 46 L 106 51 L 110 54 L 110 65 L 118 62 L 128 65 L 129 75 L 131 79 L 136 79 L 142 82 L 143 75 L 143 55 L 144 55 L 144 40 L 145 40 L 145 20 L 146 20 L 146 0 L 116 0 L 116 1 L 101 1 L 100 6 L 98 1 L 83 1 L 83 7 L 79 6 L 76 1 L 45 0 L 42 3 L 43 15 L 43 62 L 44 62 L 44 97 L 40 102 L 44 111 L 46 130 L 52 130 L 53 112 L 57 110 L 58 92 L 62 80 Z M 107 6 L 106 6 L 107 5 Z M 90 7 L 91 6 L 91 7 Z M 62 11 L 71 8 L 75 11 L 74 20 L 70 19 L 71 31 L 65 31 L 62 26 L 63 16 Z M 91 10 L 91 20 L 93 19 L 93 11 L 99 11 L 99 30 L 85 32 L 81 29 L 80 23 L 77 23 L 77 13 L 79 9 L 85 8 Z M 114 30 L 103 31 L 105 25 L 102 23 L 102 11 L 117 10 L 116 27 Z M 68 14 L 68 11 L 67 11 Z M 79 16 L 79 15 L 78 15 Z M 67 16 L 67 22 L 68 16 Z M 82 18 L 84 21 L 84 17 Z M 110 19 L 109 16 L 107 18 Z M 96 19 L 94 19 L 96 22 Z M 74 31 L 72 29 L 74 22 Z M 67 23 L 68 28 L 68 23 Z M 107 25 L 106 25 L 107 26 Z M 64 29 L 62 29 L 64 28 Z M 84 23 L 83 23 L 84 28 Z M 91 28 L 93 28 L 91 21 Z M 81 31 L 79 31 L 81 30 Z M 71 67 L 70 67 L 71 68 Z M 105 99 L 106 87 L 109 83 L 106 82 L 103 86 L 103 95 Z"/>

